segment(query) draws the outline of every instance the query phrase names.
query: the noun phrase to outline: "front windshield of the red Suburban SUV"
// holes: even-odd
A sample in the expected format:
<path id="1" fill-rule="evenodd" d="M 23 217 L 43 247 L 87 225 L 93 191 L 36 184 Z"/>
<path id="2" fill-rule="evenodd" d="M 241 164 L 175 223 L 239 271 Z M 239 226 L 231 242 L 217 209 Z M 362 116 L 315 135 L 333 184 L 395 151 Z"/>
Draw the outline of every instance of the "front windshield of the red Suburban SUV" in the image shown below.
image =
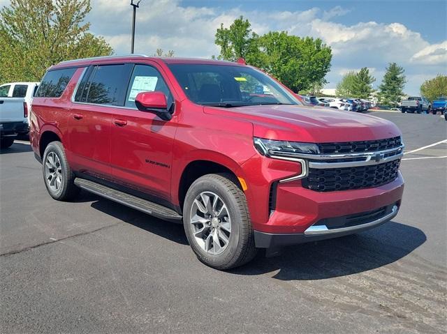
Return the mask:
<path id="1" fill-rule="evenodd" d="M 245 66 L 170 64 L 189 100 L 198 105 L 301 105 L 268 75 Z"/>

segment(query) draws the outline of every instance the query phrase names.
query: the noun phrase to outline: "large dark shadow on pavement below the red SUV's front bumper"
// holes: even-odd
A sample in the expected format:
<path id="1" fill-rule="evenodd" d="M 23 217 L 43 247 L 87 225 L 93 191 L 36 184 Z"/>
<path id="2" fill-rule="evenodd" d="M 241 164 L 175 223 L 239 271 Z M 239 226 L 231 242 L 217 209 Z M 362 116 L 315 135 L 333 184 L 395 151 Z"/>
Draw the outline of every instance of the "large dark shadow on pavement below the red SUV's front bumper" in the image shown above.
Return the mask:
<path id="1" fill-rule="evenodd" d="M 278 257 L 265 258 L 260 252 L 254 261 L 230 273 L 260 275 L 279 269 L 273 276 L 278 280 L 335 278 L 393 263 L 426 240 L 416 227 L 387 222 L 360 234 L 284 248 Z"/>

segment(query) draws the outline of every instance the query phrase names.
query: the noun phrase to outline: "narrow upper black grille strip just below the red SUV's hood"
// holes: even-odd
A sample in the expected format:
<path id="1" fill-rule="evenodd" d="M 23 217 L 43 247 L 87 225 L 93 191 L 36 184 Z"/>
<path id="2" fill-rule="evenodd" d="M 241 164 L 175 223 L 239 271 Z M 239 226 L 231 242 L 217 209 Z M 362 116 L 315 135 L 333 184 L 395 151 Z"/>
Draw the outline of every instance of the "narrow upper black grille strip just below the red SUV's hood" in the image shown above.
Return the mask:
<path id="1" fill-rule="evenodd" d="M 368 140 L 364 142 L 342 142 L 342 143 L 322 143 L 318 144 L 321 154 L 337 153 L 363 153 L 376 152 L 388 149 L 395 149 L 402 145 L 399 137 L 388 139 Z"/>

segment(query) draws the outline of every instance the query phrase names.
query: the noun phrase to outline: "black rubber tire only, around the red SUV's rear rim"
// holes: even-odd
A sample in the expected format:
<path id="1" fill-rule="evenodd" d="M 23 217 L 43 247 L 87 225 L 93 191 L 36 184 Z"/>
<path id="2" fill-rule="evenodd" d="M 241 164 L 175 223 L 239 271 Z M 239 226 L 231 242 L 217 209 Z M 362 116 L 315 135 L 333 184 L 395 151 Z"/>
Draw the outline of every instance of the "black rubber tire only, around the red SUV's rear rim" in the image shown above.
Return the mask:
<path id="1" fill-rule="evenodd" d="M 61 182 L 59 183 L 60 185 L 57 189 L 52 189 L 45 172 L 47 163 L 50 164 L 49 155 L 52 157 L 57 155 L 57 158 L 59 159 L 59 176 L 61 178 Z M 68 165 L 64 146 L 61 142 L 50 142 L 43 153 L 42 161 L 43 181 L 45 182 L 45 187 L 52 198 L 56 199 L 57 201 L 68 201 L 79 194 L 80 188 L 78 188 L 74 183 L 75 175 L 71 172 L 70 165 Z"/>

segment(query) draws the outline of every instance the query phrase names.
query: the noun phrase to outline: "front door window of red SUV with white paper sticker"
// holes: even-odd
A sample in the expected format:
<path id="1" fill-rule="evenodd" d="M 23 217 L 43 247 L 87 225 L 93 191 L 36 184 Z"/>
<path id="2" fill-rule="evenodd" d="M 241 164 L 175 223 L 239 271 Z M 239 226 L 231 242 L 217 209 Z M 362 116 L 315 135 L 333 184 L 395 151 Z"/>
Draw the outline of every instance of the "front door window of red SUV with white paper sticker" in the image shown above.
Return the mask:
<path id="1" fill-rule="evenodd" d="M 136 65 L 133 68 L 129 89 L 126 94 L 126 107 L 136 108 L 135 96 L 142 91 L 161 91 L 166 96 L 168 107 L 173 103 L 168 86 L 158 70 L 152 66 Z"/>

